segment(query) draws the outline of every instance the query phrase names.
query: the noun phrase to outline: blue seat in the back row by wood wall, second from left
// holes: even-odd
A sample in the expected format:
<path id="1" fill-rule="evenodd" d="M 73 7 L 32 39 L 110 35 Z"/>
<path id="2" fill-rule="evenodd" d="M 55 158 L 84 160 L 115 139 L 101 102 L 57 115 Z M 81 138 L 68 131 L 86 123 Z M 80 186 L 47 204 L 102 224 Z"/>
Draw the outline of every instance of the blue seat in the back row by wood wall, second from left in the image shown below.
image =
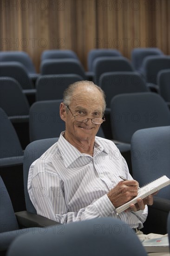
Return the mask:
<path id="1" fill-rule="evenodd" d="M 75 52 L 72 50 L 46 50 L 42 52 L 41 54 L 41 61 L 47 60 L 47 59 L 76 59 L 78 60 L 78 56 Z"/>

